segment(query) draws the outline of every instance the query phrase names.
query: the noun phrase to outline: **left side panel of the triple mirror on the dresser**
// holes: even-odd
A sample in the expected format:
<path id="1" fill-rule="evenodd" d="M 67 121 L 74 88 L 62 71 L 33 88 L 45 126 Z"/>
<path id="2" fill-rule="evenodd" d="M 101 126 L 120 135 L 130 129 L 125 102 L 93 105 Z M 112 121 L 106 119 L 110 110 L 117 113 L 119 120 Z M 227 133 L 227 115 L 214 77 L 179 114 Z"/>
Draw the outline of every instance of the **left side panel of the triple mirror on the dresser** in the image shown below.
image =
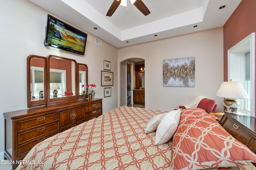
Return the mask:
<path id="1" fill-rule="evenodd" d="M 46 105 L 46 57 L 30 55 L 27 58 L 28 107 Z"/>

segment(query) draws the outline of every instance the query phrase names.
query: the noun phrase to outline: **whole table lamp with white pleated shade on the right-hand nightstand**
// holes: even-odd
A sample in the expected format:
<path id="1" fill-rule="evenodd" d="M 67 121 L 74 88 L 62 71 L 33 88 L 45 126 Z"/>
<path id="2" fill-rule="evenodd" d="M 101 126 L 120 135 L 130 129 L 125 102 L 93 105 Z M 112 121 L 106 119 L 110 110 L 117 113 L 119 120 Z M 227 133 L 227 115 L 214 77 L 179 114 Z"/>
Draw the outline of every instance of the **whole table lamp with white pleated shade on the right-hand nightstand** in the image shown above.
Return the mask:
<path id="1" fill-rule="evenodd" d="M 237 114 L 239 103 L 236 99 L 250 98 L 240 82 L 223 82 L 218 89 L 216 96 L 224 98 L 223 107 L 226 113 Z"/>

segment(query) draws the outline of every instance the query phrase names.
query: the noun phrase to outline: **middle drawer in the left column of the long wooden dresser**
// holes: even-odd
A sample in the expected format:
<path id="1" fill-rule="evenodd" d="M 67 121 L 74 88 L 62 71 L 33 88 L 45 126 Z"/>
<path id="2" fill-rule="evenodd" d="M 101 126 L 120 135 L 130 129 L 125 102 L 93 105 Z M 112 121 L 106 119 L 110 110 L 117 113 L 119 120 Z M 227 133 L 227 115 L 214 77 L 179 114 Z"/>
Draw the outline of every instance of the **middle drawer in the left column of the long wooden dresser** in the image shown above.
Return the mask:
<path id="1" fill-rule="evenodd" d="M 18 134 L 18 145 L 29 141 L 34 138 L 38 138 L 39 136 L 43 136 L 47 133 L 50 133 L 52 131 L 58 131 L 59 130 L 59 122 L 48 124 L 45 126 L 38 127 L 36 129 L 26 131 L 24 133 Z"/>

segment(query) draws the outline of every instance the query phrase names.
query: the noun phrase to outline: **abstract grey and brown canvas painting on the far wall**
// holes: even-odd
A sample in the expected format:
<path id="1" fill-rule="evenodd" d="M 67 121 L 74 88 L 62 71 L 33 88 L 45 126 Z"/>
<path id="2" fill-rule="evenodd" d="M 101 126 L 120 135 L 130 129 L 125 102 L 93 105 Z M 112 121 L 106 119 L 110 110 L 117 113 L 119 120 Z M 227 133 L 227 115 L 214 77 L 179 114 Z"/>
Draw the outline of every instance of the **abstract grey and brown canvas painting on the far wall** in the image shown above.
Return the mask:
<path id="1" fill-rule="evenodd" d="M 163 86 L 194 87 L 195 57 L 163 60 Z"/>

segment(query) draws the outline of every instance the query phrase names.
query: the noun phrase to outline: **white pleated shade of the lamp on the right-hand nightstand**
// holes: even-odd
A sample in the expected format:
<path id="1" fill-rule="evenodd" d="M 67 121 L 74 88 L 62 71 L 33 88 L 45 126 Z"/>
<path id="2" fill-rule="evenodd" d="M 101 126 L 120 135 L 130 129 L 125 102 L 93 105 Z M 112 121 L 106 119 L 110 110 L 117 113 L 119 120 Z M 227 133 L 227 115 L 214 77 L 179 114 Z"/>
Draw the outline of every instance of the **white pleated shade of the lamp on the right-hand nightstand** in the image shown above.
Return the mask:
<path id="1" fill-rule="evenodd" d="M 223 82 L 218 89 L 216 96 L 232 99 L 250 98 L 240 82 Z"/>

